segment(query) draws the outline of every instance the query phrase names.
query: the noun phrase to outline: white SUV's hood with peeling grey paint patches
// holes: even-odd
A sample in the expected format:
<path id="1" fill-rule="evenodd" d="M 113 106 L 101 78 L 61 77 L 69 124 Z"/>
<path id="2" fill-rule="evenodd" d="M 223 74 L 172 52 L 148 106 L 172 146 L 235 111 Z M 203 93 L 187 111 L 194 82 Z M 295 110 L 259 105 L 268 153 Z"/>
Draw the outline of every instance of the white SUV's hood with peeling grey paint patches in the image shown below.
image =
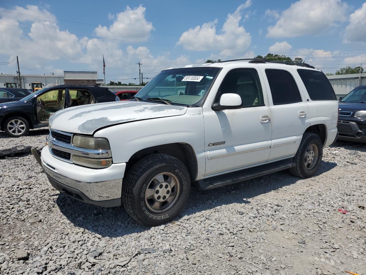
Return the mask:
<path id="1" fill-rule="evenodd" d="M 187 107 L 119 101 L 76 106 L 51 115 L 52 129 L 92 135 L 97 129 L 125 122 L 183 115 Z"/>

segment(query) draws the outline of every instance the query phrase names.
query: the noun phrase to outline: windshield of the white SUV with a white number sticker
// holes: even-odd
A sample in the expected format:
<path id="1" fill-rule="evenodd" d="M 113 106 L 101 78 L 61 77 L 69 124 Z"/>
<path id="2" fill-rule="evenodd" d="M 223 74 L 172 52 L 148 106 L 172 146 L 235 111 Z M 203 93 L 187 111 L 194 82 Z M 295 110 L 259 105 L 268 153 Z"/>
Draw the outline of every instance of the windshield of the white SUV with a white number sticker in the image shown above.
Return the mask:
<path id="1" fill-rule="evenodd" d="M 219 71 L 220 68 L 214 67 L 165 70 L 135 96 L 139 100 L 161 98 L 165 103 L 199 106 L 199 101 L 204 98 Z"/>

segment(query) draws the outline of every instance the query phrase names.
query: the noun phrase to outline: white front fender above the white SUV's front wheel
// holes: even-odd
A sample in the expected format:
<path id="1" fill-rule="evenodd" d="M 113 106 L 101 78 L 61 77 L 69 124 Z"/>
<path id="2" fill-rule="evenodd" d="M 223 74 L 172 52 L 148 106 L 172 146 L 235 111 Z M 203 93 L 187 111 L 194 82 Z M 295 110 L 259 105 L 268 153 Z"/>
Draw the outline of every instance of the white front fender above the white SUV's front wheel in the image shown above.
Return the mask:
<path id="1" fill-rule="evenodd" d="M 113 125 L 97 131 L 94 136 L 109 140 L 113 163 L 128 162 L 132 155 L 145 148 L 187 143 L 197 156 L 200 170 L 200 165 L 205 162 L 203 126 L 202 109 L 197 107 L 188 108 L 184 115 Z"/>

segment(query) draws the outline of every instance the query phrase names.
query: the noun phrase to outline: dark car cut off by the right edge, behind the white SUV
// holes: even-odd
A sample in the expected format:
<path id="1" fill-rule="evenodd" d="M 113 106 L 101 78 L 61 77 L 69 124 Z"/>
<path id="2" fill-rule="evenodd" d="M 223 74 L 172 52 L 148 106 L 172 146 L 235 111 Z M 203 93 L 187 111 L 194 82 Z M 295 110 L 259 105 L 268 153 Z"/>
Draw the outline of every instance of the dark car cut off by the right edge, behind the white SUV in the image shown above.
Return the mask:
<path id="1" fill-rule="evenodd" d="M 339 98 L 338 139 L 366 143 L 366 85 Z"/>

